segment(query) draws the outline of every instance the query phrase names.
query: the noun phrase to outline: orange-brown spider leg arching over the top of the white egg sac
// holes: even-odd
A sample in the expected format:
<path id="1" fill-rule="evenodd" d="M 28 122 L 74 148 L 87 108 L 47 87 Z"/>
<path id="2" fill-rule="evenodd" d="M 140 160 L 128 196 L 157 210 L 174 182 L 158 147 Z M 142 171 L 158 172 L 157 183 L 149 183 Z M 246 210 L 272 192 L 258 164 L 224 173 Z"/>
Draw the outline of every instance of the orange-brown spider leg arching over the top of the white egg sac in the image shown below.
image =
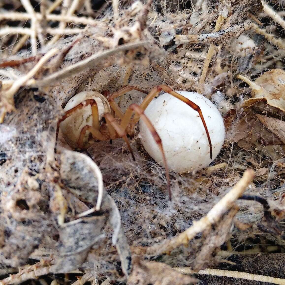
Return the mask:
<path id="1" fill-rule="evenodd" d="M 156 87 L 154 87 L 150 93 L 144 98 L 143 102 L 141 103 L 140 107 L 145 110 L 146 107 L 148 106 L 148 104 L 150 103 L 150 101 L 156 96 L 158 95 L 158 93 L 160 91 L 164 91 L 166 93 L 169 93 L 170 95 L 176 97 L 177 99 L 183 101 L 184 103 L 186 103 L 188 106 L 190 106 L 192 109 L 194 109 L 195 111 L 197 111 L 200 115 L 200 118 L 202 120 L 202 123 L 203 123 L 203 126 L 204 126 L 204 129 L 206 131 L 206 135 L 207 135 L 207 139 L 208 139 L 208 142 L 209 142 L 209 146 L 210 146 L 210 158 L 212 159 L 213 158 L 213 149 L 212 149 L 212 143 L 211 143 L 211 138 L 210 138 L 210 135 L 209 135 L 209 131 L 208 131 L 208 128 L 207 128 L 207 125 L 205 123 L 205 120 L 204 120 L 204 117 L 203 117 L 203 114 L 202 114 L 202 111 L 200 109 L 200 107 L 198 105 L 196 105 L 194 102 L 190 101 L 189 99 L 185 98 L 184 96 L 180 95 L 179 93 L 175 92 L 171 87 L 169 86 L 166 86 L 166 85 L 158 85 Z M 126 124 L 126 121 L 129 123 L 129 120 L 132 116 L 132 113 L 125 113 L 125 117 L 122 119 L 122 124 L 124 124 L 123 126 L 125 126 Z M 134 118 L 133 118 L 133 123 L 137 123 L 140 119 L 140 116 L 138 114 L 135 114 L 134 115 Z M 123 127 L 122 126 L 122 127 Z"/>

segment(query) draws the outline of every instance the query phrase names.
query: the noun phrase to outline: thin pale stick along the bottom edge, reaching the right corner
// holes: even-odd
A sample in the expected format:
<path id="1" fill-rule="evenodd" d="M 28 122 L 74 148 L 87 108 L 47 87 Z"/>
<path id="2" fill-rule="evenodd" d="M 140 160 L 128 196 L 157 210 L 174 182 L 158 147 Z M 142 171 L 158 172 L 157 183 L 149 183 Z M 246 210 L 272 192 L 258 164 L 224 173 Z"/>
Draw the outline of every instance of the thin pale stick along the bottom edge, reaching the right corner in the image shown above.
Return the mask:
<path id="1" fill-rule="evenodd" d="M 195 273 L 193 270 L 191 270 L 190 267 L 182 267 L 182 268 L 175 268 L 175 269 L 181 273 L 186 273 L 186 274 Z M 198 274 L 240 278 L 240 279 L 251 280 L 251 281 L 260 281 L 260 282 L 285 285 L 285 279 L 274 278 L 274 277 L 259 275 L 259 274 L 251 274 L 251 273 L 246 273 L 246 272 L 231 271 L 231 270 L 207 268 L 207 269 L 200 270 Z"/>

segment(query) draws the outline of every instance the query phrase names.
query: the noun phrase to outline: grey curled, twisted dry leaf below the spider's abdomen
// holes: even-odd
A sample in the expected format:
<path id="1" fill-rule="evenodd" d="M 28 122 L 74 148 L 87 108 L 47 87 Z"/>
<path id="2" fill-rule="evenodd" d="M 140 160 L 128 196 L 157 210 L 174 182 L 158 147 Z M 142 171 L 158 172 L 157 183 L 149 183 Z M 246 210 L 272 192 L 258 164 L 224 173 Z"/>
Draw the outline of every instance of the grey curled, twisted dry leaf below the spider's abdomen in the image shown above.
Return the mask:
<path id="1" fill-rule="evenodd" d="M 99 168 L 85 154 L 65 150 L 60 157 L 60 173 L 68 192 L 93 205 L 98 206 L 99 201 L 99 210 L 87 211 L 85 215 L 80 213 L 77 219 L 61 225 L 58 248 L 61 258 L 52 270 L 67 272 L 82 264 L 89 249 L 105 237 L 103 229 L 109 223 L 113 229 L 113 245 L 119 253 L 123 272 L 128 275 L 131 271 L 130 249 L 121 227 L 119 210 L 103 188 Z"/>

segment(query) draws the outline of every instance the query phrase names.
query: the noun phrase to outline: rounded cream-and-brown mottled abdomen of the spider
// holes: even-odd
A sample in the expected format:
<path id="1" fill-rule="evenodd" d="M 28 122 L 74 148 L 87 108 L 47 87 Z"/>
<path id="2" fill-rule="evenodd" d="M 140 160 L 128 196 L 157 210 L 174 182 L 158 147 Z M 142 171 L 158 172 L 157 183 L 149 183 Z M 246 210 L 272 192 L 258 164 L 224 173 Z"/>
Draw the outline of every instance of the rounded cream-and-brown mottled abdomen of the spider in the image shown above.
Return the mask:
<path id="1" fill-rule="evenodd" d="M 102 94 L 95 91 L 83 91 L 76 94 L 68 101 L 68 103 L 64 107 L 64 111 L 71 110 L 72 108 L 76 107 L 87 99 L 95 100 L 98 107 L 99 120 L 101 120 L 106 113 L 111 112 L 110 105 L 107 99 Z M 86 105 L 81 109 L 77 109 L 68 118 L 62 121 L 60 123 L 60 130 L 66 142 L 72 148 L 76 148 L 78 147 L 77 142 L 82 128 L 87 125 L 92 126 L 92 123 L 93 117 L 91 105 Z M 88 136 L 89 132 L 87 131 L 83 140 L 85 148 L 89 146 Z"/>

